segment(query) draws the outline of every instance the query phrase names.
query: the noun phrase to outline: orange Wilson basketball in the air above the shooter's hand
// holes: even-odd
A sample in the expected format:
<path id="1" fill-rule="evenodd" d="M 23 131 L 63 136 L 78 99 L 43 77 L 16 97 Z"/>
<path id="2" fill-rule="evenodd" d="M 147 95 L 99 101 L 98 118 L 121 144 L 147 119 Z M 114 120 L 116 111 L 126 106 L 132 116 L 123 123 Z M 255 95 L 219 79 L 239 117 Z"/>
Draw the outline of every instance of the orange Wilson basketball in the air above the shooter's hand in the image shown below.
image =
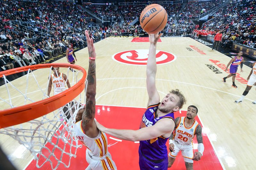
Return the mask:
<path id="1" fill-rule="evenodd" d="M 140 25 L 144 31 L 150 34 L 159 33 L 167 23 L 167 13 L 159 4 L 146 6 L 140 14 Z"/>

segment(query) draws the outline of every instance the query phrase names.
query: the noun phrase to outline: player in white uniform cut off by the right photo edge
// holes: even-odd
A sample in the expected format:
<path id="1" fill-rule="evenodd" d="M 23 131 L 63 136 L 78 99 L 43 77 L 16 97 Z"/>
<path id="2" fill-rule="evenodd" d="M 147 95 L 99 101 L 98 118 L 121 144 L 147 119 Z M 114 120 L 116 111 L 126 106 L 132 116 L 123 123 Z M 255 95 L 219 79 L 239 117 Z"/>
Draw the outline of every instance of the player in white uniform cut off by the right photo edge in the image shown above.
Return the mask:
<path id="1" fill-rule="evenodd" d="M 256 62 L 252 64 L 252 70 L 247 78 L 247 86 L 246 89 L 243 92 L 243 95 L 240 99 L 236 100 L 235 103 L 241 103 L 244 100 L 244 97 L 248 94 L 248 92 L 251 90 L 253 85 L 256 85 Z M 252 104 L 256 104 L 256 100 L 252 102 Z"/>

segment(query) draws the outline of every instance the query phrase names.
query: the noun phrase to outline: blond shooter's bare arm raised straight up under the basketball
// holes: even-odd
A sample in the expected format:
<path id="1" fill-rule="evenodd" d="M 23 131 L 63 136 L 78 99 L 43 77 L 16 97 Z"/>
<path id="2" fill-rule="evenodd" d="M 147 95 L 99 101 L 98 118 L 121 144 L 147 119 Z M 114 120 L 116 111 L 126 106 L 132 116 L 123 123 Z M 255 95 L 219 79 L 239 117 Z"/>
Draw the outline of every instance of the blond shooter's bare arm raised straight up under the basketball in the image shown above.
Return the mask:
<path id="1" fill-rule="evenodd" d="M 156 90 L 156 43 L 162 34 L 149 34 L 149 51 L 147 63 L 147 91 L 148 91 L 148 106 L 157 104 L 160 96 Z"/>

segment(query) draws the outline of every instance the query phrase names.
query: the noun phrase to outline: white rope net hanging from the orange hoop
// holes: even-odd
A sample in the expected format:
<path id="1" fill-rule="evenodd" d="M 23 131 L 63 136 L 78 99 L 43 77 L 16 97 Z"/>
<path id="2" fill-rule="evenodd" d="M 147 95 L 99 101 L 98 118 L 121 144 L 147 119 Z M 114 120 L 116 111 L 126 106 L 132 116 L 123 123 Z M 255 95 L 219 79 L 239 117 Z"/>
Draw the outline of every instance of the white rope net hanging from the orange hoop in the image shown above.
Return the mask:
<path id="1" fill-rule="evenodd" d="M 67 71 L 67 78 L 68 73 L 72 72 Z M 77 71 L 76 75 L 73 73 L 73 80 L 70 82 L 71 86 L 72 84 L 77 83 L 78 80 L 78 73 L 82 73 L 81 71 Z M 71 74 L 72 74 L 71 73 Z M 52 74 L 52 70 L 50 69 L 49 77 Z M 27 84 L 26 84 L 26 90 L 25 93 L 22 93 L 21 90 L 16 88 L 14 85 L 12 85 L 11 82 L 9 82 L 6 77 L 4 76 L 4 82 L 5 87 L 8 92 L 9 99 L 2 99 L 0 97 L 0 101 L 4 101 L 10 107 L 17 107 L 15 106 L 15 103 L 12 103 L 12 98 L 10 95 L 10 85 L 15 90 L 17 90 L 17 93 L 22 95 L 24 97 L 24 105 L 27 104 L 27 102 L 35 102 L 31 98 L 28 97 L 28 88 L 29 88 L 29 81 L 28 77 L 32 76 L 36 80 L 36 76 L 31 70 L 28 70 L 28 73 L 26 74 L 27 78 Z M 74 79 L 76 79 L 74 81 Z M 48 79 L 49 83 L 49 79 Z M 39 88 L 37 93 L 42 93 L 42 99 L 47 98 L 47 87 L 41 88 L 38 81 L 36 80 L 36 84 Z M 8 85 L 7 85 L 8 84 Z M 34 84 L 35 85 L 35 84 Z M 66 82 L 65 82 L 66 85 Z M 9 87 L 8 87 L 9 86 Z M 87 83 L 86 83 L 87 87 Z M 85 87 L 85 91 L 86 91 Z M 62 88 L 62 91 L 64 91 L 65 87 Z M 85 95 L 84 95 L 84 103 L 85 103 Z M 13 139 L 17 140 L 20 144 L 24 145 L 34 156 L 34 159 L 36 160 L 36 167 L 40 168 L 42 167 L 46 162 L 49 162 L 51 164 L 52 169 L 58 168 L 60 164 L 63 164 L 65 167 L 70 166 L 70 160 L 72 157 L 76 157 L 76 150 L 78 147 L 82 147 L 82 145 L 78 144 L 78 139 L 75 136 L 74 126 L 76 122 L 76 114 L 77 112 L 84 106 L 81 106 L 79 103 L 81 103 L 82 95 L 80 94 L 77 98 L 77 100 L 71 100 L 75 104 L 68 103 L 65 107 L 66 113 L 63 112 L 61 107 L 60 109 L 57 109 L 53 111 L 52 113 L 49 113 L 47 115 L 44 115 L 42 117 L 39 117 L 35 120 L 31 120 L 29 122 L 25 122 L 19 125 L 7 127 L 0 129 L 0 133 L 9 135 Z M 70 113 L 70 118 L 67 119 L 68 112 Z M 61 115 L 61 116 L 60 116 Z M 63 161 L 62 161 L 63 160 Z M 64 162 L 65 160 L 65 162 Z M 68 162 L 67 162 L 68 160 Z"/>

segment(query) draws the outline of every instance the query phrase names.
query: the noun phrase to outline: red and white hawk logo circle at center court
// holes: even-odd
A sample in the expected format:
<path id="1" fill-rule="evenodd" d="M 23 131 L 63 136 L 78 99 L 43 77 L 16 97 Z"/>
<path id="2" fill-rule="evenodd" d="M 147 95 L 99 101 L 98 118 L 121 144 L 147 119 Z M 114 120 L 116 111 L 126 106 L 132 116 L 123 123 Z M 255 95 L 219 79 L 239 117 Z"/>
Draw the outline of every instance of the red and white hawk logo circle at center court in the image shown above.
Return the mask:
<path id="1" fill-rule="evenodd" d="M 156 64 L 166 64 L 176 60 L 176 56 L 165 51 L 156 50 Z M 148 49 L 135 49 L 116 53 L 112 59 L 129 65 L 147 65 Z"/>

